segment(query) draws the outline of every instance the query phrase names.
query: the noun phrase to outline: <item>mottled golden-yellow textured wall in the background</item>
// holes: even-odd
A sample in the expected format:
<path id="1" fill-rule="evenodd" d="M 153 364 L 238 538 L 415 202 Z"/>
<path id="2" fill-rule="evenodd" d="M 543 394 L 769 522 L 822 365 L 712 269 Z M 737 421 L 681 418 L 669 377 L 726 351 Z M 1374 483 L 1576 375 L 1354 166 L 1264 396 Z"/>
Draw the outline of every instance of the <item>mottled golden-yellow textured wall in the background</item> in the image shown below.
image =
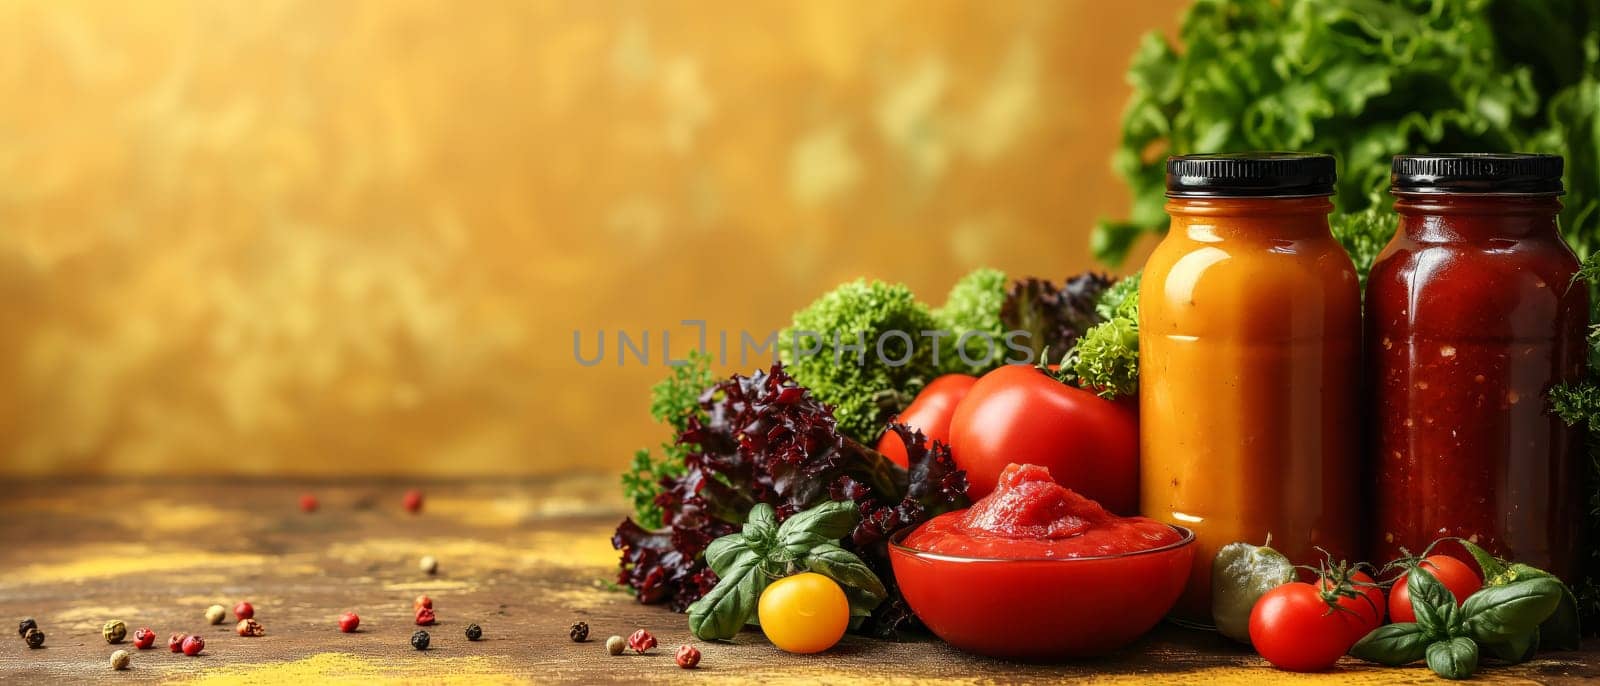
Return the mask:
<path id="1" fill-rule="evenodd" d="M 1088 267 L 1179 5 L 3 2 L 0 473 L 618 469 L 680 320 Z"/>

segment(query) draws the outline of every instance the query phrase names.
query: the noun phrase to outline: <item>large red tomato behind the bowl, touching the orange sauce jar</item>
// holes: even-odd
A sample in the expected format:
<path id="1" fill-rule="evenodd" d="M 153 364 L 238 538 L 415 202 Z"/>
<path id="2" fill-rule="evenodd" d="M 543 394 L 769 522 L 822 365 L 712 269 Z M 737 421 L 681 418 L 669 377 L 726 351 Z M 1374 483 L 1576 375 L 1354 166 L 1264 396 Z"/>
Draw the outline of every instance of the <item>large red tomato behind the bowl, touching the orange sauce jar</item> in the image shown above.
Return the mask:
<path id="1" fill-rule="evenodd" d="M 1056 483 L 1118 515 L 1139 510 L 1139 413 L 1027 365 L 984 374 L 950 419 L 950 453 L 973 501 L 1011 462 L 1050 469 Z"/>

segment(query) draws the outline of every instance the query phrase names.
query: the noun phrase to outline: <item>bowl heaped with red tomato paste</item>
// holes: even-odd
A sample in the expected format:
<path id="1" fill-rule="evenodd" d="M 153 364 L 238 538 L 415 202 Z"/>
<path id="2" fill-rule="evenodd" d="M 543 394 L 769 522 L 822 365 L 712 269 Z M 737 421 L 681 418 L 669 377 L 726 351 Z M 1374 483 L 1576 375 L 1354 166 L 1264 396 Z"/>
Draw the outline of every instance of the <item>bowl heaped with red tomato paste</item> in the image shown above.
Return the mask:
<path id="1" fill-rule="evenodd" d="M 891 539 L 890 563 L 912 611 L 952 646 L 1056 660 L 1114 651 L 1160 622 L 1192 544 L 1189 529 L 1117 516 L 1045 467 L 1013 464 L 971 509 Z"/>

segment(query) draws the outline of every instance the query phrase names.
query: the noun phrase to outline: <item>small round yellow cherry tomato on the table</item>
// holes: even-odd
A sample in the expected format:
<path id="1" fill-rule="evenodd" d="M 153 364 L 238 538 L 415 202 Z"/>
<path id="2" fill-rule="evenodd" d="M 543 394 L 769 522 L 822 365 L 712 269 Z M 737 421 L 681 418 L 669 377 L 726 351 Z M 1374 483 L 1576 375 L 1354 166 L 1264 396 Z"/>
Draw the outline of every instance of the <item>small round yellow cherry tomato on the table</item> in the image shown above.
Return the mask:
<path id="1" fill-rule="evenodd" d="M 802 572 L 774 580 L 755 608 L 766 640 L 789 652 L 822 652 L 850 628 L 845 590 L 822 574 Z"/>

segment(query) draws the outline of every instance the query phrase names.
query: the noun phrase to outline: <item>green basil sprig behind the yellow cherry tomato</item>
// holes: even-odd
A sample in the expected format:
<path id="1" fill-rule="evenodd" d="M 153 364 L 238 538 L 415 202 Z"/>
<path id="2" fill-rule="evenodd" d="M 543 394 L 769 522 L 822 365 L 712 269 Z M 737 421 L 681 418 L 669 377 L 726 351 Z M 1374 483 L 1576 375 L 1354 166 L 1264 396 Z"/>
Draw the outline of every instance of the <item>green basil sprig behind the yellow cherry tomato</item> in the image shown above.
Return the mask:
<path id="1" fill-rule="evenodd" d="M 750 509 L 744 531 L 712 540 L 706 563 L 720 579 L 690 606 L 690 630 L 702 641 L 726 641 L 755 622 L 762 592 L 776 579 L 811 571 L 838 582 L 850 614 L 866 617 L 888 598 L 877 574 L 838 539 L 856 528 L 856 504 L 827 501 L 782 524 L 771 505 Z"/>

